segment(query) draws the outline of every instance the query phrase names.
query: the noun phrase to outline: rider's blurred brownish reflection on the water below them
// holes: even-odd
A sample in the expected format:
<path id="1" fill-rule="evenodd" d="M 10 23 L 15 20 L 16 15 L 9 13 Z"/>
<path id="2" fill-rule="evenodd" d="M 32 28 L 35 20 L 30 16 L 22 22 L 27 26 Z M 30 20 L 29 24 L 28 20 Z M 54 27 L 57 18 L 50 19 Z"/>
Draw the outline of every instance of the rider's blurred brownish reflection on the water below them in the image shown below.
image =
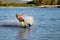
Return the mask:
<path id="1" fill-rule="evenodd" d="M 22 28 L 20 32 L 18 33 L 18 40 L 28 40 L 25 37 L 29 33 L 30 29 L 29 28 Z"/>

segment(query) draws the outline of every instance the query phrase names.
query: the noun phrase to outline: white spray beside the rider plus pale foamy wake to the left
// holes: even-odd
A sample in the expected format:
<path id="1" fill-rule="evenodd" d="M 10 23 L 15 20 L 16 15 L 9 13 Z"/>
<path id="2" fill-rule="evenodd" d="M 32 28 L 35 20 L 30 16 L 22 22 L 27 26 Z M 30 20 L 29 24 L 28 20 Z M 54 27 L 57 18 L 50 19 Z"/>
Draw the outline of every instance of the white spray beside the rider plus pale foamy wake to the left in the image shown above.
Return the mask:
<path id="1" fill-rule="evenodd" d="M 33 17 L 32 16 L 26 16 L 24 18 L 25 21 L 27 21 L 29 24 L 33 25 Z M 15 25 L 15 26 L 22 26 L 20 22 L 15 19 L 6 19 L 6 20 L 0 20 L 0 26 L 1 25 Z"/>

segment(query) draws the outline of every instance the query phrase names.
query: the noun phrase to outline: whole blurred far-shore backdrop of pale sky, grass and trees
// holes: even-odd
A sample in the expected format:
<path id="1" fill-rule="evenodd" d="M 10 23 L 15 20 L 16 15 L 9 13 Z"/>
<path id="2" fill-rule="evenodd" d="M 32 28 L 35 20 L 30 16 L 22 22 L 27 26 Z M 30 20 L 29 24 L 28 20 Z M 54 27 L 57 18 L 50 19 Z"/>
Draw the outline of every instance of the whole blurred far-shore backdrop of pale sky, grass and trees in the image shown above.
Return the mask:
<path id="1" fill-rule="evenodd" d="M 36 7 L 42 5 L 60 6 L 60 0 L 0 0 L 0 7 Z"/>

